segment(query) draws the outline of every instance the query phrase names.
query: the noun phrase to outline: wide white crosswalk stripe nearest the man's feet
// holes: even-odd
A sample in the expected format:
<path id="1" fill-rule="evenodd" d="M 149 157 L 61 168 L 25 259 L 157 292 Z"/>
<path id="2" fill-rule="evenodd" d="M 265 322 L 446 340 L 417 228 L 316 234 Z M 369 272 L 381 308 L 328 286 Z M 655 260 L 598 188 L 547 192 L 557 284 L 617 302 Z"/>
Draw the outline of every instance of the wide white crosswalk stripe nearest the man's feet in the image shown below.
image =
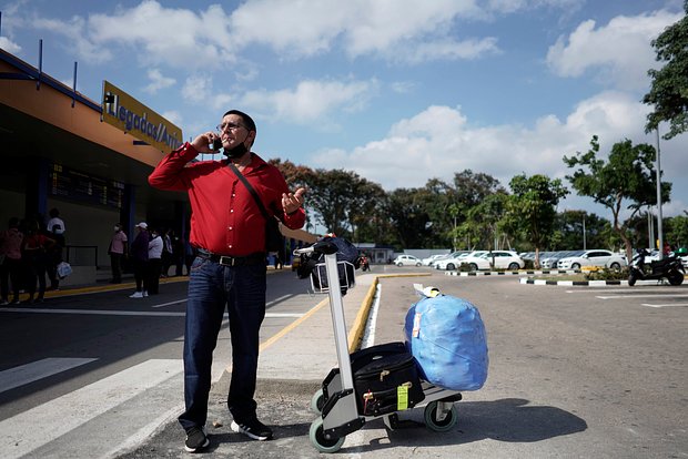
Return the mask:
<path id="1" fill-rule="evenodd" d="M 0 421 L 0 450 L 3 457 L 28 455 L 182 370 L 182 360 L 146 360 L 4 419 Z"/>

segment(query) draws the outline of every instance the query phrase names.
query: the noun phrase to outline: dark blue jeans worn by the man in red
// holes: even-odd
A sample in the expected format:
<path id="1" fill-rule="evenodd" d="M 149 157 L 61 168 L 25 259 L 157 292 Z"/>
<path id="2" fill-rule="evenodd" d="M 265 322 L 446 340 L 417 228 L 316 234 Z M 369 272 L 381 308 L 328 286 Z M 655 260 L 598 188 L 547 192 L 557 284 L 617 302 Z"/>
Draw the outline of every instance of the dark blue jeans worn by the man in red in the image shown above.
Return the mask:
<path id="1" fill-rule="evenodd" d="M 184 429 L 205 425 L 213 350 L 225 308 L 232 338 L 227 408 L 237 424 L 255 418 L 259 330 L 265 317 L 265 265 L 222 266 L 196 257 L 189 278 L 184 334 Z"/>

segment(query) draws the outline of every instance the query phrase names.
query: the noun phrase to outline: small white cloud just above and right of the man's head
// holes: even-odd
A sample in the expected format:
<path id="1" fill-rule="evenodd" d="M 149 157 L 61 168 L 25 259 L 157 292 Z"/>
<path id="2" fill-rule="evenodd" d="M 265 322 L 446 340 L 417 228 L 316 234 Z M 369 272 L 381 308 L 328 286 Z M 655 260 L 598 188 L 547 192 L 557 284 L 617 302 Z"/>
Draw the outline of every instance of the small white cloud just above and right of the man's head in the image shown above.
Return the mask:
<path id="1" fill-rule="evenodd" d="M 265 119 L 285 120 L 294 124 L 317 122 L 320 128 L 331 129 L 335 122 L 328 121 L 333 112 L 361 110 L 374 95 L 377 85 L 375 80 L 306 80 L 294 89 L 247 91 L 242 94 L 241 103 Z"/>

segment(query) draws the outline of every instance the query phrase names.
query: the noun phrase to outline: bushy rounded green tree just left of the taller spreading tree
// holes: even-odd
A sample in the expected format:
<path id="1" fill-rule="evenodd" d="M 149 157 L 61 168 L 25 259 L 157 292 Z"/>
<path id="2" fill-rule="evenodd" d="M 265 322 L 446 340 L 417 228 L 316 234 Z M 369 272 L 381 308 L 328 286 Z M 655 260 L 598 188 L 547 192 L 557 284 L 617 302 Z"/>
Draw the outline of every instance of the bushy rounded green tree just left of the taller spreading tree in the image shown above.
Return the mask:
<path id="1" fill-rule="evenodd" d="M 539 267 L 539 253 L 554 233 L 556 206 L 569 194 L 559 178 L 546 175 L 516 175 L 509 182 L 513 194 L 507 201 L 507 214 L 502 227 L 520 233 L 535 247 L 535 266 Z"/>

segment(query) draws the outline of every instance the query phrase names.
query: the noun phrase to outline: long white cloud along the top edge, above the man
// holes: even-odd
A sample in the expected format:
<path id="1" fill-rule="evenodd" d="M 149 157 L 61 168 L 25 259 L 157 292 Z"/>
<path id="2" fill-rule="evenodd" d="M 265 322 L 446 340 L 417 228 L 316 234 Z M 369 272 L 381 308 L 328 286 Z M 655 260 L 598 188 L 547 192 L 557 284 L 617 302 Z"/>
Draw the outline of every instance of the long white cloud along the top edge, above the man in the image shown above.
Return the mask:
<path id="1" fill-rule="evenodd" d="M 232 13 L 232 33 L 244 47 L 265 44 L 292 59 L 341 45 L 351 58 L 374 55 L 419 63 L 494 52 L 494 39 L 457 40 L 451 35 L 457 19 L 479 16 L 474 0 L 435 0 L 422 7 L 415 0 L 257 0 Z"/>

